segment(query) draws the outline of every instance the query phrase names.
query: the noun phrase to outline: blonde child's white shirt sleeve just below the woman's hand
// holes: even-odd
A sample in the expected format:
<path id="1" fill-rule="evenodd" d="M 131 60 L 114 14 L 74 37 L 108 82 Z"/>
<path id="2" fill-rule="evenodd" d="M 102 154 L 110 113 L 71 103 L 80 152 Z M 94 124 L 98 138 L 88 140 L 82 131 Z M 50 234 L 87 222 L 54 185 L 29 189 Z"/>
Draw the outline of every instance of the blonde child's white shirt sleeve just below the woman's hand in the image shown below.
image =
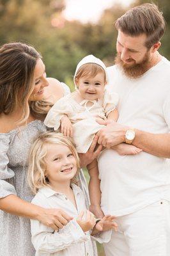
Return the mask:
<path id="1" fill-rule="evenodd" d="M 68 248 L 75 243 L 82 243 L 90 239 L 76 220 L 71 220 L 58 232 L 46 227 L 40 221 L 31 220 L 32 243 L 39 253 L 55 253 Z"/>

